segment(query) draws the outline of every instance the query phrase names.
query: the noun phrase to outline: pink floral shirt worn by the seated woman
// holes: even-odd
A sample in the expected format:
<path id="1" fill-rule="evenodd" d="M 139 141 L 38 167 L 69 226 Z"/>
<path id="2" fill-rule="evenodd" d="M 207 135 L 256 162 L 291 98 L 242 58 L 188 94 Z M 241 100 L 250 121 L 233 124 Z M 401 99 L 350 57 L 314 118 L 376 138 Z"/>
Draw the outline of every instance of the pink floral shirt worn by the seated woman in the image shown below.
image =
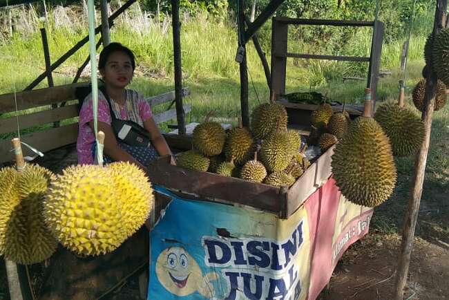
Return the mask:
<path id="1" fill-rule="evenodd" d="M 130 102 L 131 101 L 131 102 Z M 113 100 L 112 100 L 113 102 Z M 133 114 L 132 107 L 137 107 L 138 115 Z M 113 102 L 114 111 L 120 110 L 120 119 L 133 120 L 134 122 L 143 124 L 151 118 L 151 107 L 144 100 L 144 97 L 133 90 L 126 90 L 126 102 L 124 106 L 119 106 Z M 108 102 L 101 91 L 98 91 L 98 122 L 111 124 L 111 113 L 109 111 Z M 77 139 L 77 154 L 79 165 L 92 165 L 93 152 L 92 146 L 95 142 L 95 135 L 90 129 L 89 122 L 93 121 L 93 102 L 92 95 L 88 95 L 84 99 L 81 111 L 79 111 L 79 130 Z"/>

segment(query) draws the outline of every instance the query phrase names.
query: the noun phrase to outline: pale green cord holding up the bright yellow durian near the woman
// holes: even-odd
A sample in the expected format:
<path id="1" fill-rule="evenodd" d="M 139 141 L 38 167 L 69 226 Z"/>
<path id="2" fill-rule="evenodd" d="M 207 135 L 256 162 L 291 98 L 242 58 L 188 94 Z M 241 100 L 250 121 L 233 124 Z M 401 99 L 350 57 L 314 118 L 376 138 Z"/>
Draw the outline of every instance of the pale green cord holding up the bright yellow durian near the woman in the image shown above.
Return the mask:
<path id="1" fill-rule="evenodd" d="M 95 162 L 103 165 L 103 144 L 98 141 L 98 83 L 97 83 L 97 48 L 95 47 L 95 5 L 93 0 L 87 1 L 89 20 L 89 52 L 90 52 L 90 82 L 92 84 L 93 102 L 93 128 L 95 134 L 95 144 L 97 151 Z"/>

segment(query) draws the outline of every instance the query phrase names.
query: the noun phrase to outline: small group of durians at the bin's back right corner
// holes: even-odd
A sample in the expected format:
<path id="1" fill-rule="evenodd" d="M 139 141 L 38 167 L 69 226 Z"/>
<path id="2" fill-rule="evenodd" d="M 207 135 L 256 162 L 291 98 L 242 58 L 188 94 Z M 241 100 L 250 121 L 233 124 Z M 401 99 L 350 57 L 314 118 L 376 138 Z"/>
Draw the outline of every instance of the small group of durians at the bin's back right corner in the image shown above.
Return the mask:
<path id="1" fill-rule="evenodd" d="M 312 112 L 311 118 L 312 131 L 307 143 L 318 145 L 321 153 L 325 153 L 343 138 L 351 122 L 350 115 L 345 111 L 344 106 L 341 112 L 334 113 L 332 106 L 328 103 L 320 104 Z"/>

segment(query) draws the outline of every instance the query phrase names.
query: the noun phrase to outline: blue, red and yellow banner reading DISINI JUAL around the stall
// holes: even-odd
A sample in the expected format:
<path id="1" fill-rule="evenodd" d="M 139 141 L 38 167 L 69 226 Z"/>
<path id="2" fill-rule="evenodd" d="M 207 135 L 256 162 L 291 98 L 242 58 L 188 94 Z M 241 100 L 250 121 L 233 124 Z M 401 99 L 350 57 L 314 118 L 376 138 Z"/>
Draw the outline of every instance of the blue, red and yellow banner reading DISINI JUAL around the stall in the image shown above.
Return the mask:
<path id="1" fill-rule="evenodd" d="M 372 209 L 330 178 L 292 216 L 157 192 L 172 200 L 150 234 L 148 299 L 315 299 Z"/>

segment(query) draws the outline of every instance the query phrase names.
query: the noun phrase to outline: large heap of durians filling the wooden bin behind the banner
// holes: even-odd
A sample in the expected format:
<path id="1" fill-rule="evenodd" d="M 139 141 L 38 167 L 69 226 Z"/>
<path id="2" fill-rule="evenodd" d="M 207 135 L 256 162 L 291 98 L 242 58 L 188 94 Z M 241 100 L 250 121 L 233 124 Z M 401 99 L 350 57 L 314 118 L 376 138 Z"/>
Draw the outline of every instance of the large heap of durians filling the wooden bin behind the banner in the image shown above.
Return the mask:
<path id="1" fill-rule="evenodd" d="M 289 187 L 310 165 L 300 134 L 287 129 L 287 111 L 276 102 L 254 109 L 250 130 L 240 124 L 227 133 L 206 121 L 192 140 L 193 149 L 177 157 L 179 167 Z"/>

